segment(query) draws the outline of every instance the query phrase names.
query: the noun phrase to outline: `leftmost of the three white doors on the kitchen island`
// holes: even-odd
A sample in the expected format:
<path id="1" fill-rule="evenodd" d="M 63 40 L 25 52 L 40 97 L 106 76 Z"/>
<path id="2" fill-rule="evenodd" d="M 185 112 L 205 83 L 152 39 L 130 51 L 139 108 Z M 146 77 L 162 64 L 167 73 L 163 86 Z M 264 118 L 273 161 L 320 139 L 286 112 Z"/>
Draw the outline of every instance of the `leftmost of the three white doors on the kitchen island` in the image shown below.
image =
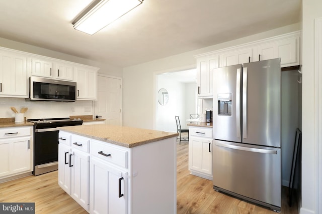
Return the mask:
<path id="1" fill-rule="evenodd" d="M 58 184 L 68 194 L 70 194 L 71 182 L 71 158 L 70 146 L 62 143 L 58 144 Z"/>

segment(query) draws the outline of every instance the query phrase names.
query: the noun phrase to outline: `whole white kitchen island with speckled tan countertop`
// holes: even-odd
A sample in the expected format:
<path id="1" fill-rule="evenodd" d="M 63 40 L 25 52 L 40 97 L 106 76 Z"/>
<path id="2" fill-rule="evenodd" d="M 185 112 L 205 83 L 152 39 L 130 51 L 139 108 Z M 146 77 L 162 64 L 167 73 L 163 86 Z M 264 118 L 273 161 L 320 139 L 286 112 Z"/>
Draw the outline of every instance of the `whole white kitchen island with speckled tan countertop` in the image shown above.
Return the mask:
<path id="1" fill-rule="evenodd" d="M 178 133 L 59 128 L 58 183 L 90 213 L 176 213 Z"/>

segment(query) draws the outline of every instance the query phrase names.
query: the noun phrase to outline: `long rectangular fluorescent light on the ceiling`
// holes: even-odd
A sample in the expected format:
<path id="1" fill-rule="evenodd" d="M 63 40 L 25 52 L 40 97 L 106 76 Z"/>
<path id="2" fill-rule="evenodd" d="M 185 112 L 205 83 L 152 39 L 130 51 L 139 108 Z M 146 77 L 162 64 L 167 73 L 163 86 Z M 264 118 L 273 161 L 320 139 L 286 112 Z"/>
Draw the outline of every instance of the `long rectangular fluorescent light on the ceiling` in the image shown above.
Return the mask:
<path id="1" fill-rule="evenodd" d="M 72 22 L 72 25 L 78 31 L 93 35 L 142 2 L 143 0 L 96 0 Z"/>

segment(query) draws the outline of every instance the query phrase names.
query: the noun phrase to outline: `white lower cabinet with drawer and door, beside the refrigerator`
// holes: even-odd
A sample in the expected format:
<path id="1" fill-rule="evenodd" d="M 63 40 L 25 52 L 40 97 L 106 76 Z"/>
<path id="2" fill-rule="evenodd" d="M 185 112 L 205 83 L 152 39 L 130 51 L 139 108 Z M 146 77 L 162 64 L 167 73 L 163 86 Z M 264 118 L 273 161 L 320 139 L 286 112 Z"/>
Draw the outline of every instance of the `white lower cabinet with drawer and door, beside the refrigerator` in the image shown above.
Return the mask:
<path id="1" fill-rule="evenodd" d="M 189 170 L 212 180 L 212 128 L 189 128 Z"/>

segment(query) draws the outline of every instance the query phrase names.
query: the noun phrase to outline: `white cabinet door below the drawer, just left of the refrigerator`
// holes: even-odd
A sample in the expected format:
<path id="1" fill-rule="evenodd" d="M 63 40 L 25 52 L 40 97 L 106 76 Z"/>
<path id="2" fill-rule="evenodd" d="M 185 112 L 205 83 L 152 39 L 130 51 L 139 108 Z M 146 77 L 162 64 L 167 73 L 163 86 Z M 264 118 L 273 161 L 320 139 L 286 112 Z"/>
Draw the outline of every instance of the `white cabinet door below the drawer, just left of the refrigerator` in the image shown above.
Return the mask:
<path id="1" fill-rule="evenodd" d="M 212 140 L 189 136 L 189 169 L 212 176 Z"/>

